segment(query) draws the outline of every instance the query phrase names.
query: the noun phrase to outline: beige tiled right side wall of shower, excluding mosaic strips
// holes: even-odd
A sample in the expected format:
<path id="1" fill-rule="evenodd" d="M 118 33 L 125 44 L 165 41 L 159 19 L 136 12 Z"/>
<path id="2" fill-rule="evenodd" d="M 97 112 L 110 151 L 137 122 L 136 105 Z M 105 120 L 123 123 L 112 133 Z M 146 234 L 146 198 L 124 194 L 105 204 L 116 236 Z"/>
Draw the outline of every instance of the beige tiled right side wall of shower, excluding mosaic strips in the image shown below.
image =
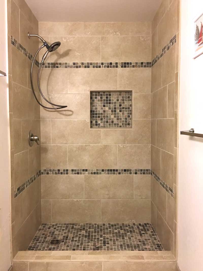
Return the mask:
<path id="1" fill-rule="evenodd" d="M 174 198 L 151 177 L 152 225 L 176 256 L 179 0 L 163 0 L 152 22 L 152 59 L 176 34 L 176 43 L 152 67 L 151 169 L 174 190 Z"/>

